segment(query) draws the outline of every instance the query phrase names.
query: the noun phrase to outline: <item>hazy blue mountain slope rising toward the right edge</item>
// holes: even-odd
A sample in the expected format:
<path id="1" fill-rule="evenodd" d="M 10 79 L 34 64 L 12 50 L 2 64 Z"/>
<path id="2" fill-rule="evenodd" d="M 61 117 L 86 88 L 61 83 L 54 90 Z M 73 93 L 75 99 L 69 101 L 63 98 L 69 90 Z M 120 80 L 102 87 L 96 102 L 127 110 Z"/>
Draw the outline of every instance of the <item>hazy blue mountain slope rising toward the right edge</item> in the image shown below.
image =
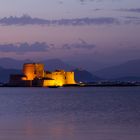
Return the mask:
<path id="1" fill-rule="evenodd" d="M 140 60 L 131 60 L 120 65 L 94 71 L 93 73 L 103 79 L 135 79 L 140 77 Z"/>

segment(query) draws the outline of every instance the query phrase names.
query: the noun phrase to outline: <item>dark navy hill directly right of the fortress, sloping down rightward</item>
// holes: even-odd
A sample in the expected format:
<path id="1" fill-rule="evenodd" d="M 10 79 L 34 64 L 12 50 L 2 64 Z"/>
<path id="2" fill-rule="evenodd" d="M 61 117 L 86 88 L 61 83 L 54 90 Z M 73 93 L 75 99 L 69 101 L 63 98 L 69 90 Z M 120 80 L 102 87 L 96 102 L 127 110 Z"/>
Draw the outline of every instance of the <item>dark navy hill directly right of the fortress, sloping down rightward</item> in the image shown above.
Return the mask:
<path id="1" fill-rule="evenodd" d="M 76 82 L 95 82 L 99 81 L 100 78 L 91 74 L 90 72 L 82 69 L 74 69 L 75 81 Z"/>

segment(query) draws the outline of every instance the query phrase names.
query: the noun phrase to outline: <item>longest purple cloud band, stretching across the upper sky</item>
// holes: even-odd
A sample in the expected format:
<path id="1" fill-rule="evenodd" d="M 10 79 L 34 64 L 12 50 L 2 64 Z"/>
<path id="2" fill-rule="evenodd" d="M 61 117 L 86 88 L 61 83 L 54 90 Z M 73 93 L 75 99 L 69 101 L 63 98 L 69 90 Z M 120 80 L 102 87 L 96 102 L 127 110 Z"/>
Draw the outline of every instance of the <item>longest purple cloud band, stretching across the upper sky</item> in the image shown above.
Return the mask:
<path id="1" fill-rule="evenodd" d="M 74 19 L 58 19 L 46 20 L 40 18 L 32 18 L 28 15 L 21 17 L 4 17 L 0 19 L 1 25 L 63 25 L 63 26 L 79 26 L 79 25 L 104 25 L 119 24 L 119 20 L 113 17 L 97 17 L 97 18 L 74 18 Z"/>

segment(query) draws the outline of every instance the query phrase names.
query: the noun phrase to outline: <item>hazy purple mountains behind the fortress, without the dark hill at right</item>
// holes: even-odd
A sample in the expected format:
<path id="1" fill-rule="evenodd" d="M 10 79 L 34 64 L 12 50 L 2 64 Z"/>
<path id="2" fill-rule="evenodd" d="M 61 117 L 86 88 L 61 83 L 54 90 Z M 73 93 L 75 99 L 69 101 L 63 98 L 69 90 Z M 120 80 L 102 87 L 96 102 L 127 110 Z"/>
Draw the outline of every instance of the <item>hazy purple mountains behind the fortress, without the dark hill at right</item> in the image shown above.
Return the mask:
<path id="1" fill-rule="evenodd" d="M 45 70 L 54 71 L 56 69 L 72 70 L 71 66 L 59 59 L 48 59 L 44 61 L 34 61 L 43 63 Z M 32 60 L 16 60 L 12 58 L 0 58 L 0 82 L 8 82 L 10 74 L 21 74 L 24 63 L 34 63 Z"/>

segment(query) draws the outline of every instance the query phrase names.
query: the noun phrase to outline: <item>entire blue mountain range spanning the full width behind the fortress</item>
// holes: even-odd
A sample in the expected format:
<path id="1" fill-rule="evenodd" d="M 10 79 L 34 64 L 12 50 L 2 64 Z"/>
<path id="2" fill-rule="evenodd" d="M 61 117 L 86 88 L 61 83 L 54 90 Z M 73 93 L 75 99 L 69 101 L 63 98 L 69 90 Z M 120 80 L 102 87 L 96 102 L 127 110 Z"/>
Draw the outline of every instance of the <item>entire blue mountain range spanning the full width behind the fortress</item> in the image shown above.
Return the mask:
<path id="1" fill-rule="evenodd" d="M 10 74 L 20 74 L 24 63 L 32 60 L 16 60 L 12 58 L 0 58 L 0 82 L 7 82 Z M 40 62 L 40 61 L 39 61 Z M 41 61 L 47 70 L 73 70 L 77 82 L 98 82 L 98 81 L 140 81 L 140 60 L 132 60 L 126 63 L 90 72 L 77 68 L 60 59 L 46 59 Z M 90 64 L 92 65 L 92 64 Z M 93 65 L 94 67 L 94 65 Z"/>

